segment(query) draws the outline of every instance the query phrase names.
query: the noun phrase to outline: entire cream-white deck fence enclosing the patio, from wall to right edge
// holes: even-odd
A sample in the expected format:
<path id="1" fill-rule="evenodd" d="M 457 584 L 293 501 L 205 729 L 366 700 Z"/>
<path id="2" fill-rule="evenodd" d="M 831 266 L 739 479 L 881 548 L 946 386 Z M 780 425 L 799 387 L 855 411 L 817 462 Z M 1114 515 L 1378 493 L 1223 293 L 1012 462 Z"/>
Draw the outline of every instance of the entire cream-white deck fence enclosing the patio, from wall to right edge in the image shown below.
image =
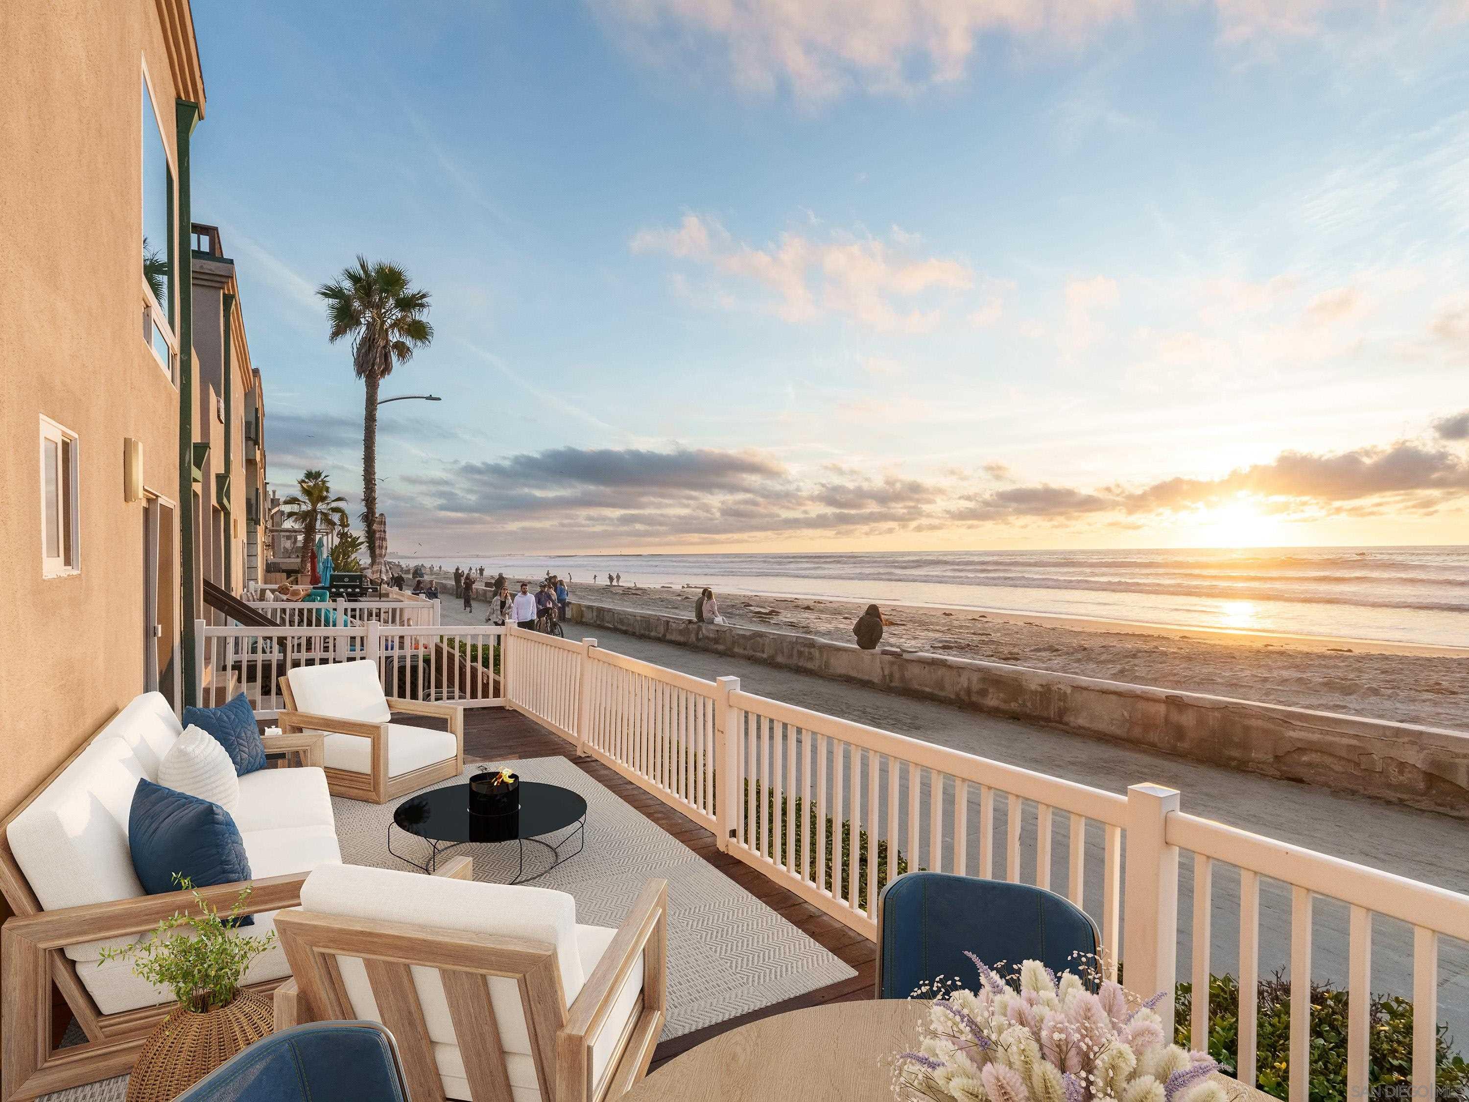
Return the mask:
<path id="1" fill-rule="evenodd" d="M 254 648 L 278 638 L 257 629 L 201 627 L 201 648 L 223 651 L 209 664 L 201 652 L 200 669 L 234 676 Z M 460 642 L 504 644 L 507 692 L 501 698 L 495 682 L 492 696 L 467 694 L 467 704 L 507 705 L 538 720 L 712 830 L 720 849 L 868 937 L 877 933 L 881 889 L 905 870 L 928 868 L 1065 895 L 1099 920 L 1106 973 L 1115 976 L 1122 961 L 1127 986 L 1144 996 L 1172 990 L 1180 958 L 1188 959 L 1196 1048 L 1208 1043 L 1212 920 L 1232 902 L 1237 1077 L 1249 1084 L 1257 1076 L 1265 898 L 1284 911 L 1269 915 L 1271 929 L 1288 930 L 1291 1102 L 1309 1098 L 1313 954 L 1318 962 L 1324 957 L 1346 962 L 1347 1098 L 1369 1098 L 1374 915 L 1406 923 L 1415 1006 L 1412 1093 L 1434 1098 L 1438 962 L 1445 948 L 1440 939 L 1456 942 L 1456 961 L 1469 959 L 1457 946 L 1469 942 L 1469 896 L 1184 814 L 1172 789 L 1134 785 L 1125 796 L 1105 792 L 765 699 L 740 691 L 737 677 L 690 677 L 605 651 L 595 639 L 569 642 L 519 627 L 386 632 L 369 623 L 301 629 L 279 645 L 286 666 L 375 655 L 386 677 L 404 658 L 432 663 L 420 644 L 442 654 Z M 260 683 L 247 673 L 241 688 L 250 692 Z M 452 692 L 460 682 L 429 676 L 417 685 Z M 266 714 L 269 696 L 259 699 L 257 711 Z M 1232 901 L 1213 892 L 1215 871 L 1225 868 L 1237 877 Z M 1191 901 L 1183 923 L 1181 879 Z M 1262 883 L 1271 890 L 1262 893 Z M 1327 921 L 1322 911 L 1332 908 L 1344 912 L 1344 924 Z M 1313 945 L 1319 929 L 1344 942 L 1334 946 L 1335 957 Z M 1158 1005 L 1165 1021 L 1172 1021 L 1172 1008 L 1171 999 Z"/>

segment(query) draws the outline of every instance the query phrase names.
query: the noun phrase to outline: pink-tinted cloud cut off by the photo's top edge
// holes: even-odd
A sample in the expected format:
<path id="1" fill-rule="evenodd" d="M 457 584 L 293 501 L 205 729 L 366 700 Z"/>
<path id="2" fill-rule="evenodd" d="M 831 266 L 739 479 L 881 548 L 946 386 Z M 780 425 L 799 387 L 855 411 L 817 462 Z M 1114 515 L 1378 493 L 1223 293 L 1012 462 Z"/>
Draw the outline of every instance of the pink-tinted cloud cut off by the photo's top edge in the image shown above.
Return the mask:
<path id="1" fill-rule="evenodd" d="M 1459 0 L 1453 0 L 1457 3 Z M 1165 0 L 592 0 L 643 62 L 805 103 L 843 93 L 912 94 L 962 79 L 989 43 L 1000 56 L 1077 50 Z M 1363 0 L 1212 0 L 1232 47 L 1324 34 Z"/>

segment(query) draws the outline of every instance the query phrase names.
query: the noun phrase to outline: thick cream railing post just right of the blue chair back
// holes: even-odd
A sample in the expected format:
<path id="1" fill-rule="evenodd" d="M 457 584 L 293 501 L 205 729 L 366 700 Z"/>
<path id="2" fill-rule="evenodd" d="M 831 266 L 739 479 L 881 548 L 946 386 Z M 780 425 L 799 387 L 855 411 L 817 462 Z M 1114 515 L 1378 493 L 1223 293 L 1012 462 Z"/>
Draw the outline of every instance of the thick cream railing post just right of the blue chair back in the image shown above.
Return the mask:
<path id="1" fill-rule="evenodd" d="M 1168 813 L 1178 791 L 1161 785 L 1127 789 L 1127 880 L 1122 899 L 1122 980 L 1147 999 L 1174 1036 L 1174 983 L 1178 959 L 1178 846 L 1165 840 Z M 1197 977 L 1196 977 L 1197 979 Z"/>

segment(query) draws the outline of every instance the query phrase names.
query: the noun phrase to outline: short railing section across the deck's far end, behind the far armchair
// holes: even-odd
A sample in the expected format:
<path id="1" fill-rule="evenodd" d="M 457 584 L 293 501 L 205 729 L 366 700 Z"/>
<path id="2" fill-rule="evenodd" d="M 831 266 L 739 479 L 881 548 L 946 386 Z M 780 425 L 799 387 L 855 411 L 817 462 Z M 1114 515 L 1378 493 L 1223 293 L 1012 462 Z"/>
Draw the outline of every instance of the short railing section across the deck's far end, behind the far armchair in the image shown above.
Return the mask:
<path id="1" fill-rule="evenodd" d="M 378 663 L 383 692 L 466 707 L 505 702 L 495 671 L 504 627 L 212 627 L 195 623 L 198 701 L 223 704 L 244 692 L 260 719 L 285 707 L 281 680 L 300 666 Z"/>

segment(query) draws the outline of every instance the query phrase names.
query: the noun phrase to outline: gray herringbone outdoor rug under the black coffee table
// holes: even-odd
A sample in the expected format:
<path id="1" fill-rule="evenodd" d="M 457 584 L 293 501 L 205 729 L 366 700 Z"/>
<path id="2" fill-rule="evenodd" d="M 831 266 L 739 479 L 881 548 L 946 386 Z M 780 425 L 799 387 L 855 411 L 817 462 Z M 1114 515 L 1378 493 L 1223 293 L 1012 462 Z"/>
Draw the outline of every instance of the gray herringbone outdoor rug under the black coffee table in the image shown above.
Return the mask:
<path id="1" fill-rule="evenodd" d="M 668 1024 L 664 1039 L 856 974 L 574 763 L 527 758 L 504 764 L 526 780 L 560 785 L 586 799 L 586 846 L 535 882 L 538 887 L 555 887 L 574 896 L 577 921 L 620 926 L 645 880 L 668 882 Z M 342 861 L 410 868 L 395 860 L 386 845 L 392 808 L 400 802 L 332 799 Z M 395 851 L 423 858 L 426 842 L 397 827 L 392 835 Z M 477 880 L 505 882 L 516 874 L 514 845 L 467 845 L 454 852 L 474 858 Z M 539 846 L 526 846 L 527 871 L 546 864 L 549 857 Z M 126 1083 L 126 1077 L 113 1078 L 47 1098 L 122 1102 Z"/>

